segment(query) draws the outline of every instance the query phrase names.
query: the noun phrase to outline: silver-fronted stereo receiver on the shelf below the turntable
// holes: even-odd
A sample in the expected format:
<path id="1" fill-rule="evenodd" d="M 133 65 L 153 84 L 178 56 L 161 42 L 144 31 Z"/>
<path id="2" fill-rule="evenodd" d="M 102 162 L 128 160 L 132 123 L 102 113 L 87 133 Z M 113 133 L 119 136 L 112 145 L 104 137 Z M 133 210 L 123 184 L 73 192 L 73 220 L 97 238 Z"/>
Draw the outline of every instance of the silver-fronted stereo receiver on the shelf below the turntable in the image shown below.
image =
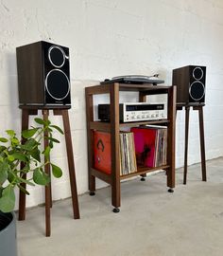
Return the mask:
<path id="1" fill-rule="evenodd" d="M 98 119 L 110 121 L 110 104 L 98 104 Z M 125 102 L 119 104 L 120 122 L 167 119 L 163 103 Z"/>

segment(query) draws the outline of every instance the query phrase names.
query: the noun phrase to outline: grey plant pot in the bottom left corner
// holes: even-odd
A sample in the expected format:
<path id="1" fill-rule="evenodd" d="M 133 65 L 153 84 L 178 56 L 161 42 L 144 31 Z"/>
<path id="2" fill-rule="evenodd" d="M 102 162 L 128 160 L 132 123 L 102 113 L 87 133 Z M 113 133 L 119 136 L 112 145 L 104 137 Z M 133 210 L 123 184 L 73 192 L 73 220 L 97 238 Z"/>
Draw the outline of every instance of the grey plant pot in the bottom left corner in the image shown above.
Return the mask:
<path id="1" fill-rule="evenodd" d="M 1 255 L 17 256 L 16 218 L 14 213 L 0 211 Z"/>

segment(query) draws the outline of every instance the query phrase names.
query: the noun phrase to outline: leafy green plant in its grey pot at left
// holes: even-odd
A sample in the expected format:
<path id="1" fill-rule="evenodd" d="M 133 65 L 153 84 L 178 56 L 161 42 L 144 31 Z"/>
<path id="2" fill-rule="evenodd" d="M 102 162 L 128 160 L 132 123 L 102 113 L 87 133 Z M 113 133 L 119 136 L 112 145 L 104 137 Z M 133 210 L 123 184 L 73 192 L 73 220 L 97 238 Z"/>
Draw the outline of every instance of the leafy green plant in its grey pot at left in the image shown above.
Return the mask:
<path id="1" fill-rule="evenodd" d="M 22 131 L 22 143 L 13 130 L 7 130 L 7 137 L 0 137 L 0 248 L 2 255 L 17 255 L 15 240 L 15 190 L 29 194 L 22 186 L 47 185 L 50 177 L 44 173 L 44 166 L 49 164 L 52 174 L 60 177 L 60 167 L 49 160 L 50 151 L 54 143 L 60 143 L 53 137 L 54 130 L 63 134 L 60 127 L 51 124 L 49 120 L 36 118 L 36 127 Z M 45 134 L 47 132 L 47 137 Z M 48 146 L 42 151 L 42 139 L 48 140 Z M 46 161 L 42 162 L 43 157 Z M 25 175 L 27 174 L 27 178 Z"/>

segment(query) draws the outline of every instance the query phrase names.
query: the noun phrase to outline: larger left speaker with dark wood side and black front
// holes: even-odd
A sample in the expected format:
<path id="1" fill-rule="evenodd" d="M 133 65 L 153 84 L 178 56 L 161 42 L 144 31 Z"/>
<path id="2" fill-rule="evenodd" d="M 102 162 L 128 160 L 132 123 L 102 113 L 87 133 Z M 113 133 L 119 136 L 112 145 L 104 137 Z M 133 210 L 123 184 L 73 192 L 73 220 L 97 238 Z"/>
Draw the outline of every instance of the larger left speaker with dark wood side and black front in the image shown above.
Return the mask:
<path id="1" fill-rule="evenodd" d="M 69 48 L 40 41 L 16 48 L 20 105 L 71 105 Z"/>

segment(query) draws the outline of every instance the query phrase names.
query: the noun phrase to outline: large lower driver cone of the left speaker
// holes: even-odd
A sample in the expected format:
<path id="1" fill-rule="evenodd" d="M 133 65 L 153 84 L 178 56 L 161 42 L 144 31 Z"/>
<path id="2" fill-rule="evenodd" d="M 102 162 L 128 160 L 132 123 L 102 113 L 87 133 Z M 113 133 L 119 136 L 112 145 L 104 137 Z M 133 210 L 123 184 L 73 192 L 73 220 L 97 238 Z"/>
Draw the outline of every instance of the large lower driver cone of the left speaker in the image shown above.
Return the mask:
<path id="1" fill-rule="evenodd" d="M 45 78 L 45 88 L 53 99 L 61 101 L 65 99 L 70 92 L 70 82 L 63 71 L 53 69 Z"/>

